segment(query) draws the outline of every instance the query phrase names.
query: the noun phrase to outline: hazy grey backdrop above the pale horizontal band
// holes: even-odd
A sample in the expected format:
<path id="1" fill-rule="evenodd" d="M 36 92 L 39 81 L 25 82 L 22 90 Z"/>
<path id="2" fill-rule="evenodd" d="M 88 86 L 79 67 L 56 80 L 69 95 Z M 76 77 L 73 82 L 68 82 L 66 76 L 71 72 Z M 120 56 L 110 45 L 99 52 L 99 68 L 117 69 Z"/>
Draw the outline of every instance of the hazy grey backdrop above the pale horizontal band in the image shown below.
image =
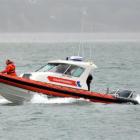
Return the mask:
<path id="1" fill-rule="evenodd" d="M 0 32 L 140 32 L 140 0 L 0 0 Z"/>

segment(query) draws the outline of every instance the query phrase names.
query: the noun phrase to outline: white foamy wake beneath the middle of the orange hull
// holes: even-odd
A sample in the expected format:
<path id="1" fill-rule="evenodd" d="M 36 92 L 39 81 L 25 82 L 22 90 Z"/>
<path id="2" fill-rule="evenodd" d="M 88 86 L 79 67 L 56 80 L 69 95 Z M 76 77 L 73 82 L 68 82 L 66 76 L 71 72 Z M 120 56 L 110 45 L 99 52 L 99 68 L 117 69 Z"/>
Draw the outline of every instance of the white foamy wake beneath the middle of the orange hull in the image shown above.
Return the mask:
<path id="1" fill-rule="evenodd" d="M 41 104 L 71 104 L 75 102 L 86 101 L 84 99 L 74 99 L 74 98 L 48 98 L 43 94 L 34 94 L 31 99 L 31 103 L 41 103 Z"/>

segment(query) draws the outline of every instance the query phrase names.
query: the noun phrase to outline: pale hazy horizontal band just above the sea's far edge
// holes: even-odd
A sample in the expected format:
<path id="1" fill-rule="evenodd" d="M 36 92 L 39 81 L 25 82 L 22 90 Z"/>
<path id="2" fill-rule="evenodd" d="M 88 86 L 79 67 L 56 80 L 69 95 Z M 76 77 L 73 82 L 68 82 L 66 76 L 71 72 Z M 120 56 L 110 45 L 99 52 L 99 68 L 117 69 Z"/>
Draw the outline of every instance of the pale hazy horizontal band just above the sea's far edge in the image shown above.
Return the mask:
<path id="1" fill-rule="evenodd" d="M 0 33 L 0 43 L 140 41 L 140 33 Z"/>

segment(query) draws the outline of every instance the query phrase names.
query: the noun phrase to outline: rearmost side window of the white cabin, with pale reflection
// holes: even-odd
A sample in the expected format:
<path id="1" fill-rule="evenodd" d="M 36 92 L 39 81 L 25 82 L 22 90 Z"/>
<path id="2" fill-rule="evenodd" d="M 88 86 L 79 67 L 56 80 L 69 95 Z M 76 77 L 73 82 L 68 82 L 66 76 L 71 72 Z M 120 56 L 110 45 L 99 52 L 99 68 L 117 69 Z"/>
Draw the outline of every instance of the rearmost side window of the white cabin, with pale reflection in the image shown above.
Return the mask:
<path id="1" fill-rule="evenodd" d="M 84 68 L 71 65 L 69 69 L 65 72 L 65 74 L 74 77 L 80 77 L 83 72 L 84 72 Z"/>

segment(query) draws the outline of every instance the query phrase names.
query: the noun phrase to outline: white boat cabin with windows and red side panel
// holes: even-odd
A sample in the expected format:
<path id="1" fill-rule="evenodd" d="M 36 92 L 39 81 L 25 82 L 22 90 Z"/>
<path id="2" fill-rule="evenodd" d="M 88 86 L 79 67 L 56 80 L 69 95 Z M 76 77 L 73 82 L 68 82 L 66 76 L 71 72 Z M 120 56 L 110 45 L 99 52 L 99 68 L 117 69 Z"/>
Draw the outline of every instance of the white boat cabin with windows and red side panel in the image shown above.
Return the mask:
<path id="1" fill-rule="evenodd" d="M 67 60 L 49 61 L 37 71 L 21 76 L 55 85 L 88 90 L 87 78 L 94 68 L 96 68 L 94 63 L 83 62 L 82 57 L 73 56 Z"/>

